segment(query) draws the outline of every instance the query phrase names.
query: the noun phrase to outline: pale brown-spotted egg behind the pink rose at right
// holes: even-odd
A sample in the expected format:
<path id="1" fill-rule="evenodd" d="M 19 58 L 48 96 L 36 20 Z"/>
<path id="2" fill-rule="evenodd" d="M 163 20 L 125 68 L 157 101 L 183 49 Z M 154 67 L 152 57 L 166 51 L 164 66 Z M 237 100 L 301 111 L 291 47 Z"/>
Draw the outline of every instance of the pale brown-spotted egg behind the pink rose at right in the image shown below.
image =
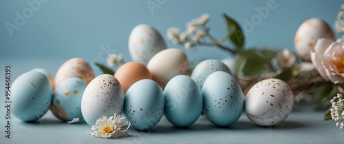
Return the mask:
<path id="1" fill-rule="evenodd" d="M 330 38 L 335 40 L 332 29 L 325 21 L 319 18 L 308 19 L 303 22 L 295 35 L 294 45 L 300 58 L 310 62 L 310 51 L 314 50 L 316 40 Z"/>

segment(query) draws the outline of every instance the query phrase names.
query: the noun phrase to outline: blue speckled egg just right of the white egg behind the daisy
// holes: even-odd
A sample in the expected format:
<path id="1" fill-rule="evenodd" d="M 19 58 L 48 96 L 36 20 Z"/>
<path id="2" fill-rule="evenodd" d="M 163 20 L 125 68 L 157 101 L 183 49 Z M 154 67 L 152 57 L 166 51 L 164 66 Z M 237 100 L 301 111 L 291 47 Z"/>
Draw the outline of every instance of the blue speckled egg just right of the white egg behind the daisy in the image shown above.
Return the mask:
<path id="1" fill-rule="evenodd" d="M 153 80 L 140 80 L 125 93 L 125 115 L 136 130 L 149 130 L 164 115 L 164 95 Z"/>

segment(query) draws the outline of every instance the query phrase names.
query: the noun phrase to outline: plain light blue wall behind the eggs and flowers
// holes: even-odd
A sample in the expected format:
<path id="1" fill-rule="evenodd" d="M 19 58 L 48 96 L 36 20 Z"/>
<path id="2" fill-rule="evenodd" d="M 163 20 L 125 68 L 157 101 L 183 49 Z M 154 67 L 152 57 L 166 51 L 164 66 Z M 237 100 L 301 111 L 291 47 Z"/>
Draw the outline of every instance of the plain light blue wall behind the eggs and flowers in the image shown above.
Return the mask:
<path id="1" fill-rule="evenodd" d="M 32 0 L 27 0 L 32 1 Z M 152 25 L 164 36 L 168 47 L 173 45 L 166 38 L 166 29 L 175 26 L 185 29 L 185 23 L 204 13 L 211 16 L 208 25 L 211 33 L 222 38 L 226 25 L 222 13 L 226 13 L 244 25 L 257 14 L 255 8 L 266 6 L 268 0 L 260 1 L 171 1 L 150 0 L 160 8 L 153 9 L 147 1 L 52 1 L 41 3 L 41 8 L 27 19 L 25 25 L 14 30 L 11 37 L 5 26 L 14 24 L 15 12 L 30 8 L 25 1 L 1 1 L 0 5 L 0 58 L 74 58 L 87 61 L 98 58 L 104 45 L 116 53 L 124 53 L 130 61 L 128 38 L 131 29 L 140 23 Z M 288 1 L 275 0 L 277 8 L 270 10 L 266 19 L 247 36 L 246 47 L 273 46 L 294 50 L 294 34 L 301 23 L 313 17 L 325 20 L 334 29 L 340 4 L 343 1 Z M 338 37 L 339 34 L 336 34 Z M 184 47 L 180 47 L 184 49 Z M 211 55 L 206 53 L 211 52 Z M 215 48 L 201 47 L 197 53 L 188 51 L 189 58 L 224 58 L 228 53 Z M 105 58 L 105 55 L 103 56 Z M 66 59 L 67 60 L 67 59 Z M 59 65 L 59 64 L 58 64 Z M 54 73 L 54 71 L 52 71 Z"/>

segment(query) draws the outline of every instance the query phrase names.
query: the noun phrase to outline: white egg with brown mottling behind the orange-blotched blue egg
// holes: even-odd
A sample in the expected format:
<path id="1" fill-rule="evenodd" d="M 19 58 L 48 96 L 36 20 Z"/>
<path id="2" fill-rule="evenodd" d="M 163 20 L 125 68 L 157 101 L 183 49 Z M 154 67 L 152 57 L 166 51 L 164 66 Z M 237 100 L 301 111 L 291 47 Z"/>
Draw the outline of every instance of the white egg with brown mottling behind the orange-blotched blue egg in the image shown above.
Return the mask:
<path id="1" fill-rule="evenodd" d="M 55 75 L 55 86 L 70 77 L 79 77 L 86 84 L 94 79 L 91 66 L 82 58 L 72 58 L 61 65 Z"/>

